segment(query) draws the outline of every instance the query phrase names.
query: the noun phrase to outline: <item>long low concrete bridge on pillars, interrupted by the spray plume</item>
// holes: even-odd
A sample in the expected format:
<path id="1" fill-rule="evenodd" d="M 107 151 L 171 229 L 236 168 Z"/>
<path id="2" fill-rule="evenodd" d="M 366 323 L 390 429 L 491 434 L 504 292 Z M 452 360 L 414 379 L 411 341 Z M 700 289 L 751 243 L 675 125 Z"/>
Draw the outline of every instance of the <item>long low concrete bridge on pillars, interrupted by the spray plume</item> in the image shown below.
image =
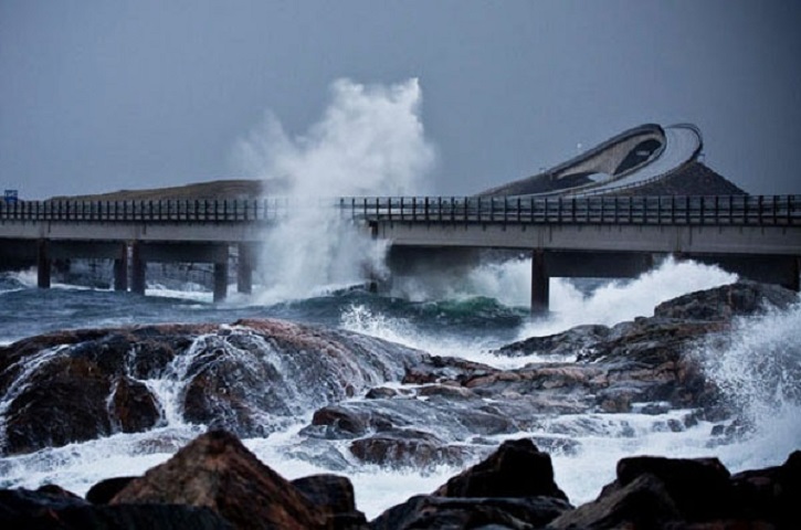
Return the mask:
<path id="1" fill-rule="evenodd" d="M 251 289 L 264 231 L 298 208 L 286 199 L 236 201 L 45 201 L 0 203 L 0 266 L 108 258 L 115 288 L 144 293 L 148 262 L 214 264 L 225 297 L 232 248 L 238 288 Z M 473 250 L 533 257 L 533 310 L 548 306 L 550 277 L 628 277 L 654 256 L 712 262 L 799 290 L 801 195 L 402 197 L 322 201 L 333 215 L 391 242 L 396 264 Z"/>

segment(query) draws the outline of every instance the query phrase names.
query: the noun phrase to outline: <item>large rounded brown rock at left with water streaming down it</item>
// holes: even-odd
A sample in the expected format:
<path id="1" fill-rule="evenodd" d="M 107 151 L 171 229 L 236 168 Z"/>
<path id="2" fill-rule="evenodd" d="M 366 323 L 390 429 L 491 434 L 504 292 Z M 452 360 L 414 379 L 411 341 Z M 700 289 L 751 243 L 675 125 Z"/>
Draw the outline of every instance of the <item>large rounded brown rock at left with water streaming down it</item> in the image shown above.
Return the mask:
<path id="1" fill-rule="evenodd" d="M 264 436 L 388 381 L 428 356 L 278 320 L 56 332 L 0 347 L 0 454 L 141 432 L 165 421 L 146 380 L 182 388 L 182 420 Z M 254 389 L 260 389 L 254 392 Z"/>

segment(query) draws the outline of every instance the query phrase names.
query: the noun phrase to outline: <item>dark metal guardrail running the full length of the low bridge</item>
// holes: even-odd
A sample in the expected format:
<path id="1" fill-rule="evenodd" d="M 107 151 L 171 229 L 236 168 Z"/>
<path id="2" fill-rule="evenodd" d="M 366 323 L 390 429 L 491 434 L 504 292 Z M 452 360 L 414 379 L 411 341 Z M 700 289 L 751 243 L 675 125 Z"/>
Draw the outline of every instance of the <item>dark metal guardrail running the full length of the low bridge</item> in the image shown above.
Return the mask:
<path id="1" fill-rule="evenodd" d="M 302 208 L 338 209 L 340 215 L 363 222 L 801 225 L 801 195 L 19 201 L 0 202 L 0 223 L 254 223 L 276 221 Z"/>

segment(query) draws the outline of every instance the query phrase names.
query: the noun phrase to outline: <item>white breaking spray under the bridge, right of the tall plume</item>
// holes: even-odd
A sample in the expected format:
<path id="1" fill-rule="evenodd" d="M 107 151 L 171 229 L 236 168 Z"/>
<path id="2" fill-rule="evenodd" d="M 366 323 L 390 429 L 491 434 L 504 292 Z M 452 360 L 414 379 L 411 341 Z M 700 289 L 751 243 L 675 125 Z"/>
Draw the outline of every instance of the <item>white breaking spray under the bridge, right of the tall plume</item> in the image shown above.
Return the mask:
<path id="1" fill-rule="evenodd" d="M 520 319 L 514 326 L 514 335 L 503 331 L 498 312 L 508 305 L 527 311 L 530 293 L 530 259 L 516 258 L 486 263 L 471 269 L 464 277 L 451 278 L 447 285 L 428 289 L 424 279 L 404 284 L 410 290 L 396 293 L 412 296 L 419 300 L 434 300 L 434 295 L 447 294 L 454 305 L 468 305 L 476 298 L 500 300 L 493 315 L 485 316 L 492 326 L 481 336 L 449 333 L 453 318 L 434 319 L 445 324 L 426 329 L 430 315 L 408 312 L 405 317 L 389 316 L 363 305 L 356 305 L 342 311 L 341 326 L 354 331 L 373 335 L 442 356 L 465 357 L 473 361 L 493 364 L 496 368 L 516 368 L 539 359 L 536 354 L 509 359 L 496 357 L 491 350 L 504 343 L 535 336 L 554 335 L 575 326 L 601 324 L 613 326 L 636 317 L 653 316 L 656 305 L 671 298 L 733 283 L 737 276 L 716 266 L 693 261 L 677 262 L 667 258 L 657 267 L 628 280 L 609 280 L 582 292 L 576 283 L 563 278 L 551 280 L 551 311 L 545 317 Z M 412 288 L 413 285 L 413 288 Z M 424 301 L 419 301 L 425 304 Z M 445 307 L 443 301 L 431 301 Z M 525 304 L 525 307 L 524 307 Z M 475 311 L 474 311 L 475 312 Z M 475 327 L 475 325 L 473 326 Z M 508 331 L 508 329 L 506 330 Z M 548 360 L 554 360 L 549 358 Z"/>

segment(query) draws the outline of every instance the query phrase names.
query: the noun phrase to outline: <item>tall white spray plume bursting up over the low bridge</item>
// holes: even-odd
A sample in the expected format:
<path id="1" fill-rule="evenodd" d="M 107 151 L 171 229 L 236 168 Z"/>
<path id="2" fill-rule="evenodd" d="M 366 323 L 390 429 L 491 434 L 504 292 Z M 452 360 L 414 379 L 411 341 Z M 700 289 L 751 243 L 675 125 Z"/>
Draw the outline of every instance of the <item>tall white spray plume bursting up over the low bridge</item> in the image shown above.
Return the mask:
<path id="1" fill-rule="evenodd" d="M 383 272 L 378 243 L 333 208 L 338 197 L 425 192 L 435 162 L 420 119 L 418 80 L 389 86 L 338 80 L 323 117 L 303 135 L 272 113 L 235 150 L 245 171 L 280 187 L 289 208 L 266 231 L 261 303 L 314 296 Z"/>

